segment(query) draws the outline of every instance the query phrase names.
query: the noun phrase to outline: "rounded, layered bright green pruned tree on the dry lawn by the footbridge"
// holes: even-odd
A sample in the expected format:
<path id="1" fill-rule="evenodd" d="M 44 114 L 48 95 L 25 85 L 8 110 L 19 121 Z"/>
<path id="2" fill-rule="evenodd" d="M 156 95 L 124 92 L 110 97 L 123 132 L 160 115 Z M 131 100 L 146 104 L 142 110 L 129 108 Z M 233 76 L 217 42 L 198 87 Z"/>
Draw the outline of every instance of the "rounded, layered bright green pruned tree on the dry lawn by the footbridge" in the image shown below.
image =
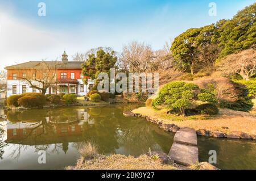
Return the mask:
<path id="1" fill-rule="evenodd" d="M 196 97 L 194 90 L 199 87 L 193 83 L 170 82 L 167 83 L 153 100 L 152 107 L 166 106 L 167 108 L 179 108 L 184 115 L 184 109 L 191 105 L 191 100 Z"/>

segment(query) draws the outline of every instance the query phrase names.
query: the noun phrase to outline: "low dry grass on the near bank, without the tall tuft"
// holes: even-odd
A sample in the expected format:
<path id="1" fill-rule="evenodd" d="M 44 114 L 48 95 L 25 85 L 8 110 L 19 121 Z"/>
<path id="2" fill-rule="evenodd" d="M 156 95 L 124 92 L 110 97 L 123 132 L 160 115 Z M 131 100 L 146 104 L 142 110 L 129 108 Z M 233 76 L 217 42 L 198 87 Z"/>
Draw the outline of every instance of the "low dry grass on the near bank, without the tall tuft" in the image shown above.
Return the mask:
<path id="1" fill-rule="evenodd" d="M 176 167 L 164 164 L 160 159 L 152 158 L 148 155 L 141 155 L 138 158 L 125 155 L 100 155 L 94 159 L 86 160 L 75 167 L 67 169 L 79 170 L 174 170 Z"/>

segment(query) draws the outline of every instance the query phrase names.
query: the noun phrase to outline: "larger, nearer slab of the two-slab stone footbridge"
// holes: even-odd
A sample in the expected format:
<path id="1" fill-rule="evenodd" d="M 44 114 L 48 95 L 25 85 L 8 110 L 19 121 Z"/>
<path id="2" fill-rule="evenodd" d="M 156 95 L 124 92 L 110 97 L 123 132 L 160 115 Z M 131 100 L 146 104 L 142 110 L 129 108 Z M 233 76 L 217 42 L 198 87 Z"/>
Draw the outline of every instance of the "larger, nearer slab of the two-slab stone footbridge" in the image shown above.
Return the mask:
<path id="1" fill-rule="evenodd" d="M 168 155 L 175 163 L 185 166 L 199 162 L 197 146 L 183 145 L 174 142 Z"/>

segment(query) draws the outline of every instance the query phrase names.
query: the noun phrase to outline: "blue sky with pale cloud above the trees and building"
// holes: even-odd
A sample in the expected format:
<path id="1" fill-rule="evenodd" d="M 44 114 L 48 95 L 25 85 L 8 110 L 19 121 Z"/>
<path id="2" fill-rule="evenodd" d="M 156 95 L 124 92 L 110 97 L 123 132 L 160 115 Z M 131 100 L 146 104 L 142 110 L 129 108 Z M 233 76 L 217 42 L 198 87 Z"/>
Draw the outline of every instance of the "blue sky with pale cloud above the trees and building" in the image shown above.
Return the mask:
<path id="1" fill-rule="evenodd" d="M 46 16 L 38 16 L 38 3 Z M 217 16 L 209 16 L 209 3 Z M 6 65 L 138 40 L 153 49 L 191 27 L 230 19 L 255 0 L 0 0 L 0 61 Z"/>

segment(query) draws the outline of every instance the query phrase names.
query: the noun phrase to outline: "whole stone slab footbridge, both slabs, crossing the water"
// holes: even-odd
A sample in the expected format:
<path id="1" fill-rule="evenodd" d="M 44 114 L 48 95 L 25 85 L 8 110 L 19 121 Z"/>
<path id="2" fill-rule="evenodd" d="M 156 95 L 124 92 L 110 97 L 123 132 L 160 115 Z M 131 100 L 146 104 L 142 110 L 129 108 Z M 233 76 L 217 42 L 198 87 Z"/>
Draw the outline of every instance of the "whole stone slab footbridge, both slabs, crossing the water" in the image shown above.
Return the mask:
<path id="1" fill-rule="evenodd" d="M 176 163 L 190 166 L 199 162 L 196 131 L 190 128 L 181 128 L 174 136 L 169 156 Z"/>

